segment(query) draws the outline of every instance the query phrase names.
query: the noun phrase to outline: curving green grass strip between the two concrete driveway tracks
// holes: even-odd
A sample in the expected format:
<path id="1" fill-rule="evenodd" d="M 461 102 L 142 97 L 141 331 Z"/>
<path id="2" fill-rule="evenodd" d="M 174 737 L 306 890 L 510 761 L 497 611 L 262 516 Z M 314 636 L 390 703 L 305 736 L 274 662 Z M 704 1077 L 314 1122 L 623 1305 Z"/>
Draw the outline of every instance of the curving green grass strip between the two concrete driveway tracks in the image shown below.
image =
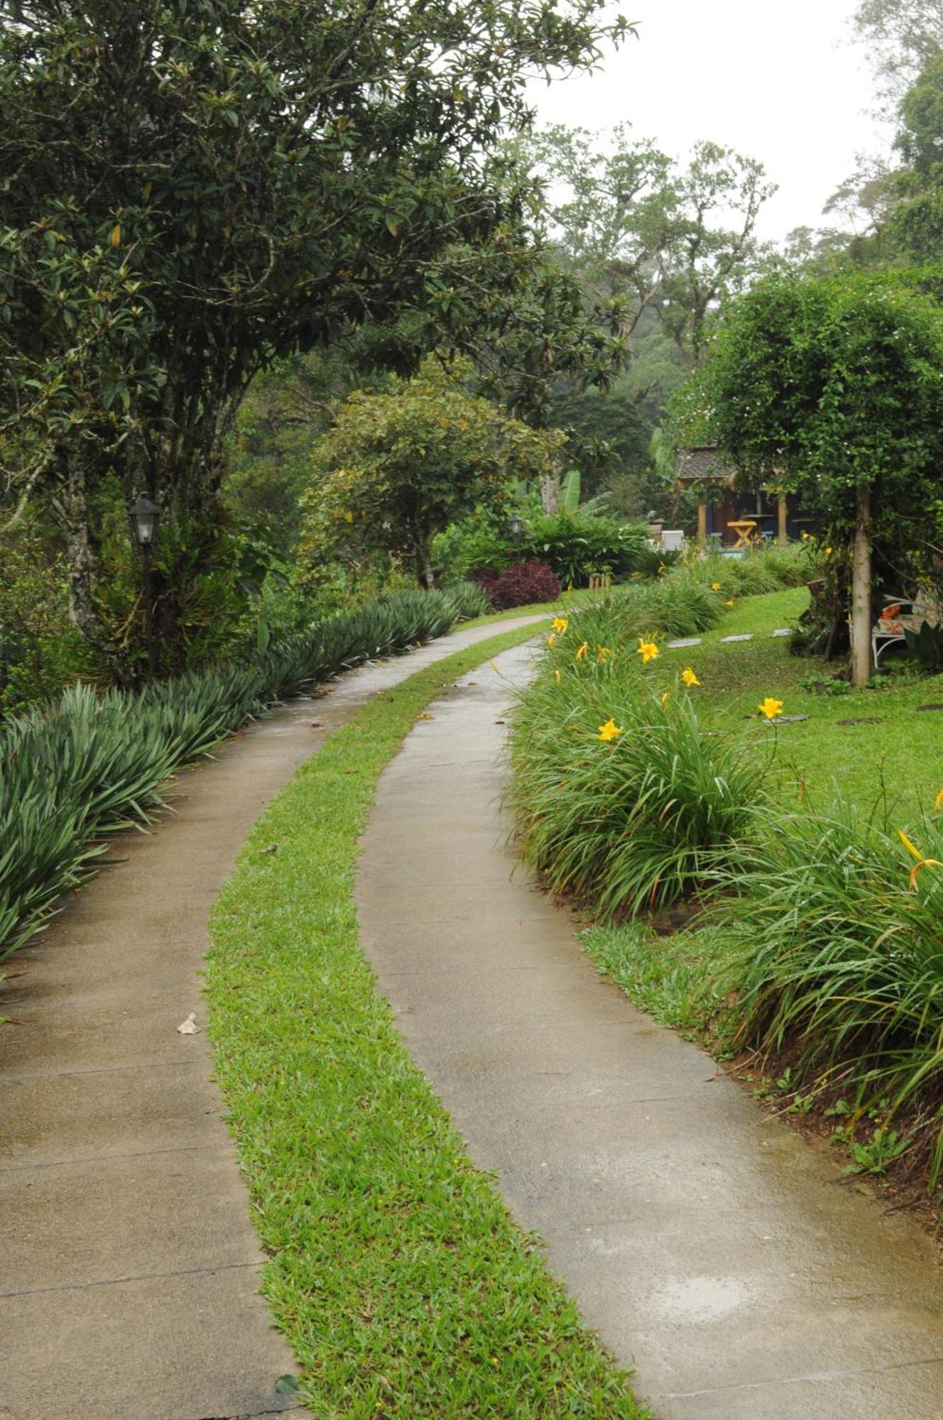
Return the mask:
<path id="1" fill-rule="evenodd" d="M 383 765 L 450 682 L 533 635 L 471 646 L 361 710 L 258 819 L 213 912 L 216 1072 L 270 1255 L 263 1289 L 322 1420 L 648 1414 L 471 1167 L 358 943 L 358 836 Z"/>

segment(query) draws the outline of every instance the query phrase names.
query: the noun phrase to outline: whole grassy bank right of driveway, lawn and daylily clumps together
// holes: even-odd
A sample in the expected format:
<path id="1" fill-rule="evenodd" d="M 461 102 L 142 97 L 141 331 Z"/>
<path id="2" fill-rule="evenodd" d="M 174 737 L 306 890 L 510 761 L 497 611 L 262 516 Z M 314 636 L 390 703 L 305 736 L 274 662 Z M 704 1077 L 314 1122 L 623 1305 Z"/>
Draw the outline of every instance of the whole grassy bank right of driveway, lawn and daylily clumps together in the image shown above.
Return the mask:
<path id="1" fill-rule="evenodd" d="M 516 721 L 524 848 L 639 1007 L 848 1169 L 939 1197 L 943 677 L 851 690 L 773 636 L 804 604 L 724 598 L 697 645 L 652 630 L 648 659 L 638 623 L 575 613 Z M 767 723 L 767 697 L 802 719 Z"/>

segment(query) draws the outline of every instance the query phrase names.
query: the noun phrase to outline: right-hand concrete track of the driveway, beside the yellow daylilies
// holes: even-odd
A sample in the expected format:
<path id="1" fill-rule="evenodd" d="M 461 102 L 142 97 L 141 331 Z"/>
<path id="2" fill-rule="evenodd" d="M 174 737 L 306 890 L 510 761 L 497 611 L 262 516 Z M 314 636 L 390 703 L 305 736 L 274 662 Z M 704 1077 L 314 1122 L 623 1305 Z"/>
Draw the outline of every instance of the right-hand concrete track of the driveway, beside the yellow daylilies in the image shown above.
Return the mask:
<path id="1" fill-rule="evenodd" d="M 511 682 L 528 652 L 508 652 Z M 516 865 L 507 684 L 430 707 L 364 841 L 362 941 L 409 1048 L 658 1420 L 940 1420 L 943 1279 L 696 1047 L 596 977 Z"/>

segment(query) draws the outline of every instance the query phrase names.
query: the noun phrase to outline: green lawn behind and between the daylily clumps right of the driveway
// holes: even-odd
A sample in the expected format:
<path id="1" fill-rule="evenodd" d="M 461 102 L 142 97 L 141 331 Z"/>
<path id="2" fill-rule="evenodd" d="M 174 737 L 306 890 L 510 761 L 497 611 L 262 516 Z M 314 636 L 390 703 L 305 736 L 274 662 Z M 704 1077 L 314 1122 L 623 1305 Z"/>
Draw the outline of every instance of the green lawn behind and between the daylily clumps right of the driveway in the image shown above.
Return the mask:
<path id="1" fill-rule="evenodd" d="M 836 697 L 804 689 L 800 680 L 828 683 L 841 665 L 790 656 L 788 640 L 768 635 L 788 626 L 805 598 L 804 589 L 743 598 L 700 646 L 663 650 L 659 673 L 667 684 L 683 666 L 694 669 L 702 686 L 693 694 L 703 724 L 733 730 L 750 743 L 757 787 L 784 808 L 802 802 L 824 808 L 838 791 L 863 808 L 876 804 L 882 818 L 886 811 L 892 842 L 898 828 L 922 841 L 922 815 L 943 788 L 943 711 L 917 707 L 943 701 L 943 676 Z M 721 642 L 743 632 L 758 635 L 748 642 Z M 808 720 L 775 727 L 761 723 L 756 707 L 765 696 L 783 700 L 784 714 Z M 881 723 L 841 723 L 852 719 Z M 906 880 L 906 865 L 895 858 L 895 868 Z M 719 1030 L 719 1022 L 730 1012 L 723 976 L 717 977 L 730 951 L 723 914 L 713 926 L 694 924 L 669 936 L 658 936 L 643 922 L 592 926 L 582 940 L 598 967 L 639 1008 L 723 1055 L 724 1027 Z M 770 1091 L 777 1095 L 770 1081 L 760 1081 L 757 1089 L 764 1098 Z"/>

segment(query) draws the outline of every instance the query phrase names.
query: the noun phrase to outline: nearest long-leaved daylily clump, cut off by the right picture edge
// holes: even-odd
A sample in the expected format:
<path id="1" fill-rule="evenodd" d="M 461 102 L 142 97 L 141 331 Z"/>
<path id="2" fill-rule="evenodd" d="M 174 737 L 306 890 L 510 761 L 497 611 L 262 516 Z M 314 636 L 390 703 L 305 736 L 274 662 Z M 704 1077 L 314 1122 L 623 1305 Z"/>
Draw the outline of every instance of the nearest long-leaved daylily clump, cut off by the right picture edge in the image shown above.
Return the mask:
<path id="1" fill-rule="evenodd" d="M 811 1088 L 842 1079 L 883 1122 L 923 1110 L 943 1164 L 943 822 L 909 835 L 836 798 L 761 815 L 721 875 L 720 991 L 738 994 L 730 1048 L 798 1052 Z"/>

